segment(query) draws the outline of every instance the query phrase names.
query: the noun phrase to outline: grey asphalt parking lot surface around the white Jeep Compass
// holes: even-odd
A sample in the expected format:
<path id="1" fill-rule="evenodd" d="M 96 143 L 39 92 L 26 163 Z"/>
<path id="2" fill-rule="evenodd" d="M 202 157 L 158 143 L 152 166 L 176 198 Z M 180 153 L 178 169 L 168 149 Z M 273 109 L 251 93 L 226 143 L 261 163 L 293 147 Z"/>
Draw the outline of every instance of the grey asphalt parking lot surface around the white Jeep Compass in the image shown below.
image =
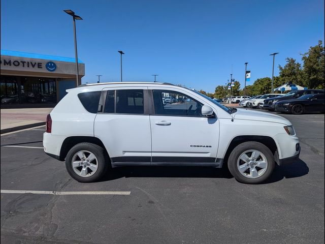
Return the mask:
<path id="1" fill-rule="evenodd" d="M 280 115 L 300 138 L 300 161 L 262 185 L 204 167 L 116 168 L 82 184 L 44 154 L 44 127 L 1 136 L 1 241 L 323 243 L 324 114 Z"/>

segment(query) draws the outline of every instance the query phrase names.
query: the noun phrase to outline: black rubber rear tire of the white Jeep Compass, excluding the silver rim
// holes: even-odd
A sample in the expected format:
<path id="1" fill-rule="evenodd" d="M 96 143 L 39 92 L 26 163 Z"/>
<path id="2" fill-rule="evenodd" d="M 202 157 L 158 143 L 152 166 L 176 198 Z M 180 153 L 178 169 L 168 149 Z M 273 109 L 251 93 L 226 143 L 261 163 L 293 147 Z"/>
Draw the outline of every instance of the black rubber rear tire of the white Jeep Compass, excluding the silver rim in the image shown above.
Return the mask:
<path id="1" fill-rule="evenodd" d="M 78 153 L 78 151 L 86 150 L 90 151 L 97 159 L 97 170 L 90 176 L 83 177 L 78 175 L 72 167 L 72 159 L 74 155 Z M 79 182 L 94 182 L 99 180 L 107 171 L 110 165 L 109 156 L 107 155 L 105 149 L 99 145 L 83 142 L 73 146 L 66 157 L 66 168 L 68 173 L 72 178 Z"/>

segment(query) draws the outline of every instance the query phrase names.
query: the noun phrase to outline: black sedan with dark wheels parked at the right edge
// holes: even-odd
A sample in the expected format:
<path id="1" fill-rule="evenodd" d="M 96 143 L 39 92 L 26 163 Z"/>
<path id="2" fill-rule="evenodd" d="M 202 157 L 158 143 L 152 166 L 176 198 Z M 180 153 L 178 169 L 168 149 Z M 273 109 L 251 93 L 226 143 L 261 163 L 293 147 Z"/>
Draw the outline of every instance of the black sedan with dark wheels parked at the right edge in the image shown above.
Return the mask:
<path id="1" fill-rule="evenodd" d="M 275 111 L 293 114 L 324 112 L 324 94 L 308 94 L 298 99 L 275 103 Z"/>

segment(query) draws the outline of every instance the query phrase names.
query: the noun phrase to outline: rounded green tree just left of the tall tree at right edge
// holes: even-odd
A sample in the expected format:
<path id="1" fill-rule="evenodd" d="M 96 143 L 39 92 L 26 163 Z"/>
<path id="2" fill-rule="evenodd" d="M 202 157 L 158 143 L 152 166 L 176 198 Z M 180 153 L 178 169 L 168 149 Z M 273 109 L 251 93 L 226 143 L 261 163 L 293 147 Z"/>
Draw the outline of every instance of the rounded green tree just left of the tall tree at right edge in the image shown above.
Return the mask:
<path id="1" fill-rule="evenodd" d="M 285 60 L 286 64 L 284 65 L 284 67 L 281 67 L 279 65 L 279 78 L 282 83 L 280 85 L 292 82 L 294 84 L 304 86 L 303 70 L 301 68 L 301 64 L 297 63 L 296 59 L 291 57 L 287 57 Z"/>

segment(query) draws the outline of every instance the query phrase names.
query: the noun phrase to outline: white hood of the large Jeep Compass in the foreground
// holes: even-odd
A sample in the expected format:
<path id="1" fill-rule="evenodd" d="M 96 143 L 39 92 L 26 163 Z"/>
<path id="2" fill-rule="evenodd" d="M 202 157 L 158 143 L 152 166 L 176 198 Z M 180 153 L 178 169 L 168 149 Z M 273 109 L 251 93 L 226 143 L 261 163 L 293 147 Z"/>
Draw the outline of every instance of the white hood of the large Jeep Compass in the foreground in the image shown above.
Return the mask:
<path id="1" fill-rule="evenodd" d="M 268 121 L 273 123 L 281 123 L 290 126 L 291 122 L 284 117 L 276 114 L 254 111 L 251 109 L 238 108 L 237 112 L 233 114 L 234 119 L 246 119 L 256 121 Z"/>

